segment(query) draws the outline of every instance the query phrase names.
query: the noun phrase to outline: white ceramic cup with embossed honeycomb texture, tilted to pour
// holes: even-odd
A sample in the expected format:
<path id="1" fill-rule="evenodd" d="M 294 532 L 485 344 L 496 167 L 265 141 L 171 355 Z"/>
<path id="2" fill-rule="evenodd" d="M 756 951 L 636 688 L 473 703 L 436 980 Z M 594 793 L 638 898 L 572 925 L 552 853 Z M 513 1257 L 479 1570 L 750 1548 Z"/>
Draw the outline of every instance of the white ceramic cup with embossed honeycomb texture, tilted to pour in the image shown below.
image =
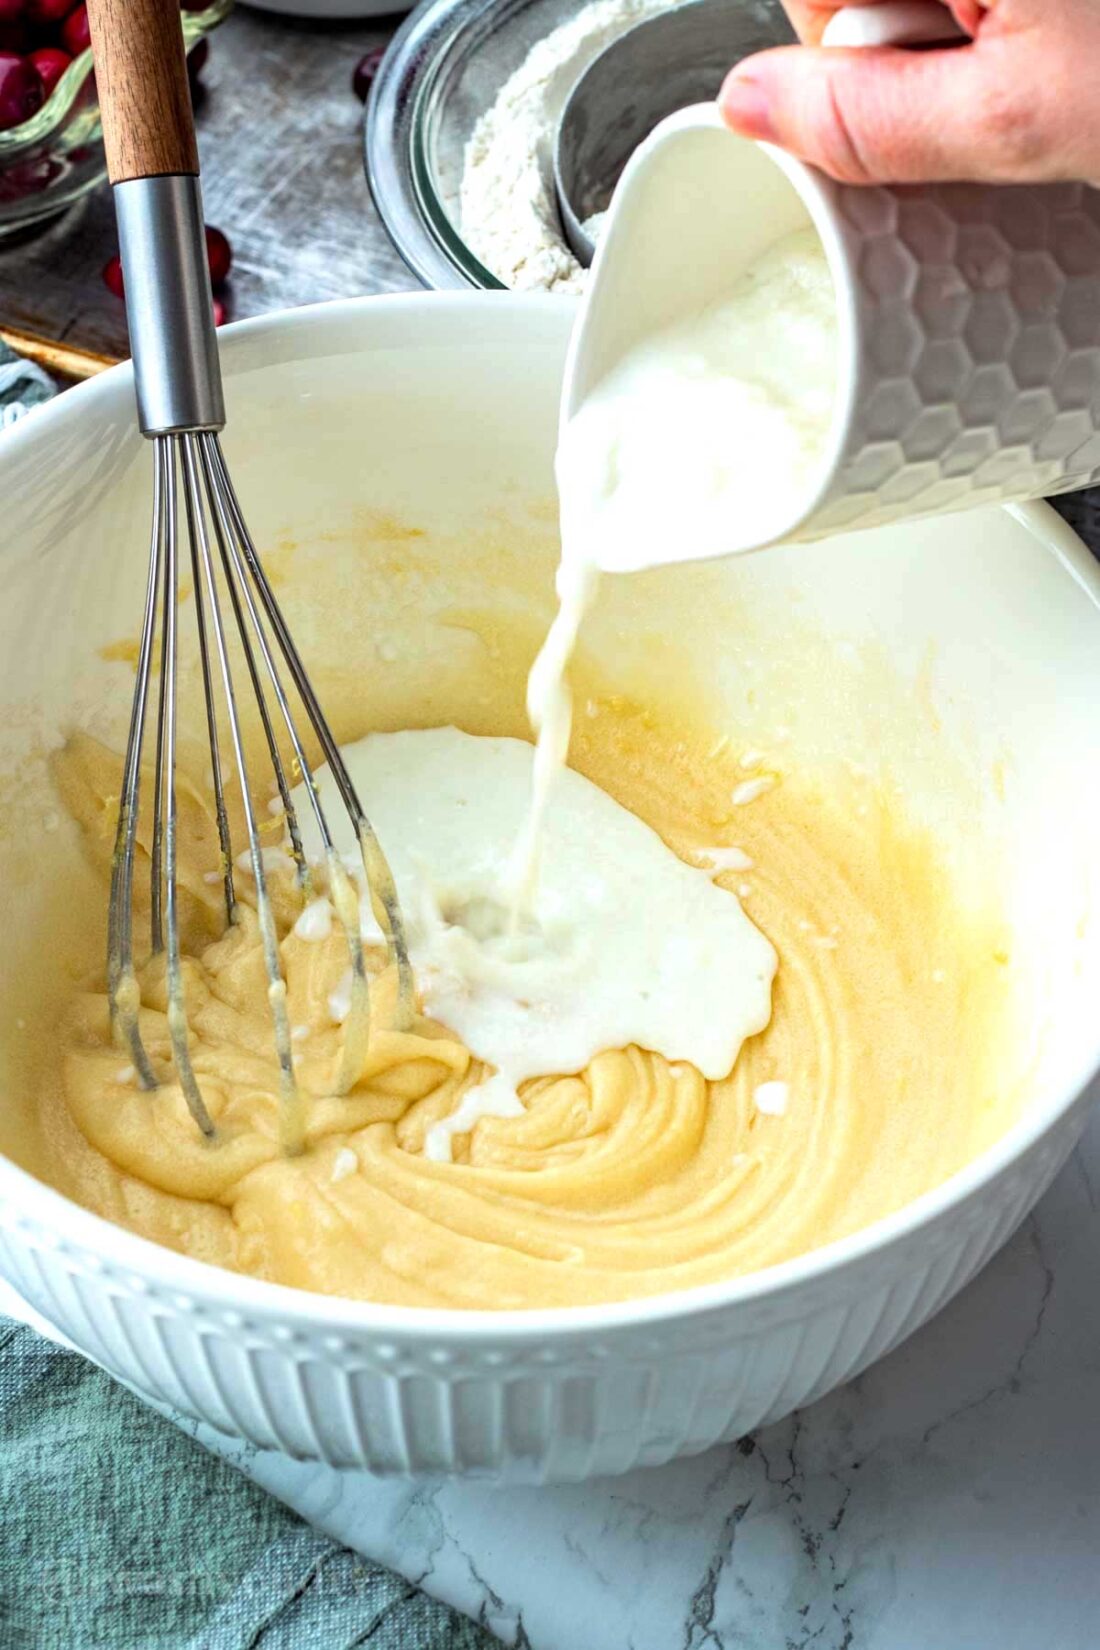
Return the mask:
<path id="1" fill-rule="evenodd" d="M 917 43 L 928 31 L 947 31 L 938 7 L 863 7 L 839 13 L 830 40 Z M 806 224 L 836 287 L 828 449 L 813 483 L 777 500 L 764 536 L 739 538 L 731 515 L 727 553 L 1100 477 L 1100 191 L 856 188 L 734 135 L 714 104 L 663 120 L 623 170 L 562 417 L 632 345 L 719 300 Z M 670 559 L 693 559 L 691 544 L 671 546 Z"/>

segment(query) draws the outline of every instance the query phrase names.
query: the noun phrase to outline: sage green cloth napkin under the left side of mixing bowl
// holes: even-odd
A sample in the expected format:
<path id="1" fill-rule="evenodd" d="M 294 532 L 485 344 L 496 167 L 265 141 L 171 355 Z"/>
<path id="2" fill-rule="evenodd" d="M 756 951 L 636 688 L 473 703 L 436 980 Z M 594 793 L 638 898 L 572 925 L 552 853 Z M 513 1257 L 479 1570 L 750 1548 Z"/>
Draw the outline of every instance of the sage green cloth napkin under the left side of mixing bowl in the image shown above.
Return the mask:
<path id="1" fill-rule="evenodd" d="M 0 342 L 0 432 L 53 393 Z M 500 1650 L 94 1365 L 0 1318 L 0 1650 L 353 1645 Z"/>

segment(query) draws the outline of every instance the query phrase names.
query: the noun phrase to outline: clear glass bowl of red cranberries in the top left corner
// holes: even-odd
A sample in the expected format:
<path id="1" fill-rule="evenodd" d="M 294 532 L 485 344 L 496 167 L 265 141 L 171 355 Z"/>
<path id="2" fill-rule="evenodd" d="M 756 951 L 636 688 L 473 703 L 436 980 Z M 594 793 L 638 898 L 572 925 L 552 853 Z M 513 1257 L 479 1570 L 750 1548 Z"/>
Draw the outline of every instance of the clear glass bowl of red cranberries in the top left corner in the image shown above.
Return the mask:
<path id="1" fill-rule="evenodd" d="M 188 53 L 231 5 L 183 0 Z M 63 211 L 106 173 L 82 0 L 0 0 L 0 236 Z"/>

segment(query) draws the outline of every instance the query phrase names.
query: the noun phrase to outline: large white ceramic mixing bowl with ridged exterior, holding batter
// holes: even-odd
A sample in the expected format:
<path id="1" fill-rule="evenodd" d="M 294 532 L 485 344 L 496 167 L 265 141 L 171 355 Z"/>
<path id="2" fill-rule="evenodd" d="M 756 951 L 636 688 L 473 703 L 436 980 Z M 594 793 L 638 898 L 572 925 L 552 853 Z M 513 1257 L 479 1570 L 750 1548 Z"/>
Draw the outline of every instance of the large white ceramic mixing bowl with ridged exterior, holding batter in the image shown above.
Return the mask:
<path id="1" fill-rule="evenodd" d="M 340 645 L 360 648 L 363 670 L 404 670 L 411 703 L 430 676 L 440 698 L 424 716 L 445 719 L 447 683 L 458 691 L 482 668 L 455 609 L 500 599 L 533 634 L 549 614 L 571 318 L 552 299 L 411 295 L 223 335 L 229 457 L 261 544 L 284 546 L 290 566 L 292 543 L 307 564 L 348 558 L 355 622 Z M 148 521 L 127 368 L 0 439 L 0 1145 L 33 1163 L 12 1076 L 20 955 L 43 940 L 38 855 L 66 835 L 48 817 L 43 752 L 74 713 L 117 736 L 132 680 L 101 657 L 135 625 Z M 366 563 L 355 559 L 364 540 Z M 409 554 L 429 559 L 409 571 Z M 996 876 L 1032 1096 L 947 1185 L 765 1274 L 495 1315 L 214 1270 L 0 1158 L 0 1272 L 135 1388 L 256 1444 L 378 1472 L 613 1473 L 736 1437 L 848 1379 L 976 1272 L 1082 1129 L 1100 1054 L 1097 592 L 1090 558 L 1049 510 L 994 508 L 612 582 L 592 622 L 594 652 L 627 688 L 671 662 L 752 744 L 782 723 L 792 759 L 886 759 L 960 874 Z M 284 594 L 315 658 L 323 639 L 294 578 Z M 66 894 L 101 898 L 78 871 Z"/>

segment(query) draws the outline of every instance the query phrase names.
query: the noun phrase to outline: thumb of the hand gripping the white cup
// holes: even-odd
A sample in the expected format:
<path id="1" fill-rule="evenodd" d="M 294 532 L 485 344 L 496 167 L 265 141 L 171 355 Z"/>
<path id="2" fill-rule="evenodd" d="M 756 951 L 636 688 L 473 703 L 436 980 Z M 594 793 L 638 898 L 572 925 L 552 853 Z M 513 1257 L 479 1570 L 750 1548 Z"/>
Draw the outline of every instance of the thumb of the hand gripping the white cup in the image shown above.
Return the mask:
<path id="1" fill-rule="evenodd" d="M 719 106 L 841 183 L 1029 182 L 1051 153 L 1034 82 L 980 46 L 783 46 L 739 63 Z"/>

